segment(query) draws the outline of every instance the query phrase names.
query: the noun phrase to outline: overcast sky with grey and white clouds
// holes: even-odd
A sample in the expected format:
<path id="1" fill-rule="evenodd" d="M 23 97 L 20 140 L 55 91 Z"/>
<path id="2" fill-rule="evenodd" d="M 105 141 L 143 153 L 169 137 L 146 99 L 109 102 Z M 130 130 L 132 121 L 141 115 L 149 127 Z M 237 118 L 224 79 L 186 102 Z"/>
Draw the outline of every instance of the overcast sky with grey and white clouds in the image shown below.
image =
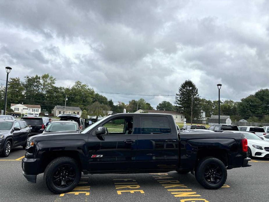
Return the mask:
<path id="1" fill-rule="evenodd" d="M 174 95 L 190 79 L 201 97 L 218 99 L 221 83 L 221 99 L 240 100 L 269 88 L 268 10 L 267 0 L 0 0 L 0 79 L 10 66 L 10 77 L 146 95 Z"/>

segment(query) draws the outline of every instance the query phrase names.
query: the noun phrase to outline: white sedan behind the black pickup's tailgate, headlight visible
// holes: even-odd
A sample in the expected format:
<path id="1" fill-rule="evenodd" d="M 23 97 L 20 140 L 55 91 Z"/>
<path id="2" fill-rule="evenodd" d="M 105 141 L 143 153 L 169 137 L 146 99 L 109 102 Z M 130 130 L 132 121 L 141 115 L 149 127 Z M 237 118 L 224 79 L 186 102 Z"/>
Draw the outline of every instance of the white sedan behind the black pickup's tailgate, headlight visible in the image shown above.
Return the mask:
<path id="1" fill-rule="evenodd" d="M 244 131 L 225 131 L 233 133 L 243 133 L 247 138 L 247 157 L 269 157 L 269 142 L 263 140 L 261 137 Z"/>

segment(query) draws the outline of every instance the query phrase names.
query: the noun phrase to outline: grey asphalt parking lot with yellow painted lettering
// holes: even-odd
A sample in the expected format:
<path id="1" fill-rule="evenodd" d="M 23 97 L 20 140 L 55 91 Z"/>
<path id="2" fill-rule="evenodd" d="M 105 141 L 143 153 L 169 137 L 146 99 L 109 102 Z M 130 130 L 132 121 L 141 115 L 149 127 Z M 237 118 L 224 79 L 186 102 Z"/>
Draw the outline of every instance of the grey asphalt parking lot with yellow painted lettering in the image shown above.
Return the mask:
<path id="1" fill-rule="evenodd" d="M 43 183 L 30 184 L 22 175 L 22 147 L 0 158 L 0 201 L 268 201 L 269 159 L 253 159 L 252 166 L 228 170 L 225 186 L 218 190 L 201 187 L 190 173 L 82 175 L 73 192 L 52 194 Z"/>

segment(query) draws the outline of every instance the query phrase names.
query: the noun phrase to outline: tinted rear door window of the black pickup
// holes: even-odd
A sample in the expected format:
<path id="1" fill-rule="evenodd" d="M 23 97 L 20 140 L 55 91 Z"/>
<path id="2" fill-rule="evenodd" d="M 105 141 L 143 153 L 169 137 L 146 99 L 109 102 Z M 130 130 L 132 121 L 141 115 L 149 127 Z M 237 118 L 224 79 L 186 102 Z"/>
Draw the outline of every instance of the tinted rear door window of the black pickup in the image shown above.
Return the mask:
<path id="1" fill-rule="evenodd" d="M 165 116 L 141 116 L 141 134 L 168 134 L 171 132 Z"/>

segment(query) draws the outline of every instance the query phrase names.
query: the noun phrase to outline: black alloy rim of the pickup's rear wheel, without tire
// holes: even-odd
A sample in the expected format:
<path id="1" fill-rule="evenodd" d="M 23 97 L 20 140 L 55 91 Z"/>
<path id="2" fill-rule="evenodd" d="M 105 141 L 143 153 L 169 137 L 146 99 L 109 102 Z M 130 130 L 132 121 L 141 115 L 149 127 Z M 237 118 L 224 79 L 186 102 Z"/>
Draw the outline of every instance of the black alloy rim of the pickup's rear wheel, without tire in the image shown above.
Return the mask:
<path id="1" fill-rule="evenodd" d="M 217 164 L 209 164 L 204 170 L 204 178 L 210 184 L 217 184 L 222 178 L 222 172 Z"/>

